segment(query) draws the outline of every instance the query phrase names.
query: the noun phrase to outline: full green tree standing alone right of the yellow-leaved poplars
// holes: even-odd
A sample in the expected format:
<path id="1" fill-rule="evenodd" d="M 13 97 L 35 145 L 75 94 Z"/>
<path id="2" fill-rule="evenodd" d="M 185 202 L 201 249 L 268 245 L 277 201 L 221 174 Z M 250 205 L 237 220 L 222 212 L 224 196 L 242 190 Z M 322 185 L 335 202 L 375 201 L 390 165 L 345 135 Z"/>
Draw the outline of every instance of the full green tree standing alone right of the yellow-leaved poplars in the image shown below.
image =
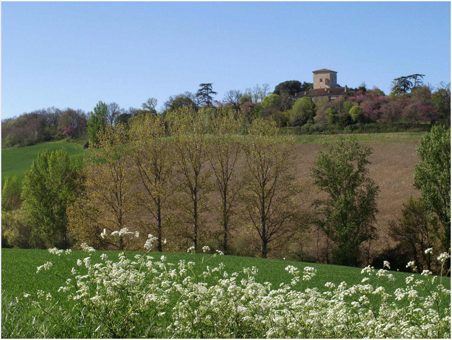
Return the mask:
<path id="1" fill-rule="evenodd" d="M 336 245 L 334 263 L 357 266 L 361 244 L 376 237 L 378 185 L 367 177 L 369 146 L 355 136 L 339 137 L 336 144 L 325 141 L 311 168 L 319 191 L 328 195 L 314 202 L 315 223 Z"/>

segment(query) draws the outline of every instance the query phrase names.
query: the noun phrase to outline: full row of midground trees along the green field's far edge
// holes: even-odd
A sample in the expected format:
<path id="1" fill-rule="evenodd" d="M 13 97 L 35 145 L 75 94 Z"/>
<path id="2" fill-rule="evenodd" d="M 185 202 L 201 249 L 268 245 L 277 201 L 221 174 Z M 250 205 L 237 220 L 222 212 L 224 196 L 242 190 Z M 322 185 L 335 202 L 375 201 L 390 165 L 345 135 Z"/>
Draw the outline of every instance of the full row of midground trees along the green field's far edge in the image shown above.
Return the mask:
<path id="1" fill-rule="evenodd" d="M 152 234 L 158 251 L 209 245 L 230 255 L 310 260 L 302 255 L 306 235 L 320 232 L 326 262 L 368 261 L 365 247 L 377 237 L 371 148 L 353 136 L 323 143 L 311 173 L 325 195 L 310 202 L 293 146 L 274 121 L 249 123 L 234 109 L 207 105 L 100 125 L 83 164 L 45 151 L 22 193 L 17 180 L 5 179 L 2 245 L 134 250 Z M 391 232 L 405 256 L 433 270 L 425 250 L 450 244 L 450 128 L 434 126 L 418 155 L 422 198 L 410 198 Z"/>

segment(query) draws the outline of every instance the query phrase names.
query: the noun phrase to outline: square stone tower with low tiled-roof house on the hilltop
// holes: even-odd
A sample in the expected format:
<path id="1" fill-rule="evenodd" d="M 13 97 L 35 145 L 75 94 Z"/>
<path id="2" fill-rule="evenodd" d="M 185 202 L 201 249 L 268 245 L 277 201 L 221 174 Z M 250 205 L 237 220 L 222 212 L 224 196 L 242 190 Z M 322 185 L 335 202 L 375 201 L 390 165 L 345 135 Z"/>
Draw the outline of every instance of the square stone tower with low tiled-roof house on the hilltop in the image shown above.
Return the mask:
<path id="1" fill-rule="evenodd" d="M 322 68 L 321 70 L 312 71 L 314 73 L 314 90 L 298 92 L 293 98 L 309 97 L 311 99 L 331 99 L 337 98 L 349 91 L 353 91 L 345 85 L 340 87 L 337 85 L 337 72 Z"/>

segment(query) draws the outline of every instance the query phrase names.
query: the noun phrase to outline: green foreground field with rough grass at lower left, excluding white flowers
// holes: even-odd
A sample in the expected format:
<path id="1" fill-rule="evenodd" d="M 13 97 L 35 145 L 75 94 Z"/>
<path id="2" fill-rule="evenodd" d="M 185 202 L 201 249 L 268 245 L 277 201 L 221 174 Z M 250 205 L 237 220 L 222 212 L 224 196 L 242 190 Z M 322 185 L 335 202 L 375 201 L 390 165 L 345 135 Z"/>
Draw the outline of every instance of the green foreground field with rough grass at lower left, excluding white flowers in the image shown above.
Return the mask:
<path id="1" fill-rule="evenodd" d="M 73 251 L 70 255 L 61 255 L 58 257 L 56 255 L 50 254 L 47 250 L 23 250 L 23 249 L 2 249 L 2 266 L 1 266 L 1 290 L 2 290 L 2 337 L 15 337 L 15 338 L 29 338 L 29 337 L 118 337 L 119 334 L 121 336 L 126 336 L 130 334 L 128 331 L 126 333 L 117 333 L 124 331 L 121 329 L 121 325 L 127 325 L 127 321 L 122 319 L 125 317 L 122 312 L 118 312 L 119 314 L 115 317 L 119 317 L 119 319 L 115 319 L 111 325 L 119 325 L 120 328 L 109 328 L 106 329 L 105 325 L 109 323 L 102 320 L 102 315 L 99 314 L 100 319 L 98 321 L 94 319 L 90 319 L 90 321 L 86 320 L 84 317 L 84 309 L 80 309 L 80 306 L 76 305 L 75 301 L 70 298 L 67 299 L 67 293 L 63 291 L 58 292 L 58 288 L 61 286 L 65 286 L 65 279 L 73 278 L 71 274 L 71 268 L 75 267 L 80 270 L 80 274 L 86 274 L 86 269 L 84 269 L 83 264 L 81 267 L 77 266 L 77 259 L 84 259 L 87 256 L 90 256 L 91 262 L 93 264 L 100 263 L 101 254 L 107 254 L 109 260 L 116 261 L 118 259 L 118 251 L 97 251 L 86 253 L 84 251 Z M 126 257 L 129 260 L 133 260 L 134 256 L 140 254 L 143 255 L 144 252 L 126 252 Z M 318 290 L 319 292 L 326 292 L 328 288 L 325 287 L 325 283 L 332 282 L 337 286 L 340 283 L 346 282 L 348 287 L 352 287 L 353 285 L 360 285 L 362 279 L 367 277 L 366 274 L 361 274 L 360 268 L 351 268 L 351 267 L 343 267 L 343 266 L 335 266 L 328 264 L 311 264 L 311 263 L 302 263 L 302 262 L 294 262 L 294 261 L 286 261 L 286 260 L 266 260 L 266 259 L 258 259 L 258 258 L 246 258 L 246 257 L 237 257 L 237 256 L 216 256 L 213 257 L 210 254 L 187 254 L 187 253 L 158 253 L 158 252 L 150 252 L 149 255 L 155 257 L 155 261 L 160 260 L 160 256 L 166 256 L 165 263 L 170 266 L 170 263 L 178 264 L 179 260 L 193 261 L 196 264 L 193 269 L 189 271 L 187 274 L 200 279 L 200 282 L 205 280 L 205 283 L 208 287 L 216 286 L 217 289 L 220 289 L 221 283 L 218 279 L 215 279 L 212 276 L 207 276 L 207 279 L 204 278 L 203 271 L 212 270 L 214 267 L 217 267 L 220 263 L 224 264 L 224 269 L 222 269 L 221 277 L 227 278 L 231 277 L 231 274 L 234 272 L 239 273 L 237 277 L 237 283 L 240 283 L 242 279 L 247 279 L 247 274 L 244 273 L 244 268 L 257 267 L 258 274 L 255 277 L 256 283 L 262 283 L 266 285 L 267 282 L 272 283 L 272 289 L 278 289 L 281 287 L 280 283 L 291 284 L 291 279 L 293 278 L 285 268 L 289 265 L 293 265 L 298 269 L 303 270 L 305 266 L 314 267 L 317 271 L 316 275 L 308 281 L 301 281 L 302 287 L 295 289 L 300 289 L 305 291 L 306 293 L 310 290 Z M 65 262 L 64 260 L 67 260 Z M 40 271 L 37 273 L 37 267 L 46 263 L 47 261 L 52 262 L 52 267 L 47 271 Z M 158 266 L 157 263 L 155 265 Z M 207 267 L 208 266 L 208 267 Z M 95 265 L 94 265 L 95 267 Z M 97 267 L 96 267 L 97 268 Z M 161 269 L 162 267 L 160 267 Z M 210 269 L 208 269 L 210 268 Z M 229 275 L 223 274 L 227 272 Z M 212 272 L 213 273 L 213 272 Z M 395 281 L 388 281 L 387 278 L 382 277 L 380 281 L 375 274 L 370 276 L 370 280 L 367 281 L 368 284 L 371 284 L 373 289 L 378 286 L 384 286 L 386 292 L 391 294 L 390 300 L 394 301 L 394 291 L 397 288 L 406 288 L 405 278 L 410 276 L 409 273 L 402 272 L 391 272 L 395 276 Z M 107 278 L 106 276 L 105 278 Z M 419 274 L 414 274 L 414 279 L 424 279 L 423 276 Z M 443 284 L 447 289 L 450 289 L 450 277 L 442 278 Z M 223 280 L 224 281 L 224 280 Z M 378 281 L 378 284 L 377 284 Z M 435 283 L 438 284 L 439 279 Z M 94 283 L 94 282 L 92 282 Z M 162 284 L 164 284 L 162 282 Z M 220 284 L 220 286 L 218 285 Z M 184 283 L 185 285 L 185 283 Z M 230 286 L 233 288 L 234 286 Z M 253 287 L 253 286 L 250 286 Z M 253 288 L 251 288 L 253 289 Z M 283 288 L 281 293 L 285 293 Z M 428 289 L 435 289 L 433 286 L 429 286 Z M 42 302 L 30 302 L 30 299 L 35 299 L 39 290 L 43 292 L 40 293 L 45 295 L 47 293 L 51 293 L 52 297 L 49 301 L 46 302 L 46 297 L 43 298 Z M 196 291 L 198 292 L 198 291 Z M 276 291 L 275 291 L 276 292 Z M 279 290 L 278 290 L 279 292 Z M 257 291 L 255 291 L 257 293 Z M 251 290 L 251 294 L 253 290 Z M 428 295 L 428 292 L 422 291 L 422 295 Z M 31 297 L 27 297 L 26 295 L 30 294 Z M 128 293 L 130 294 L 130 293 Z M 34 297 L 33 297 L 34 296 Z M 351 296 L 351 295 L 350 295 Z M 94 298 L 94 297 L 93 297 Z M 131 297 L 127 297 L 127 299 L 131 298 L 133 300 L 133 294 Z M 176 306 L 182 296 L 178 297 L 177 295 L 170 298 L 170 306 Z M 221 298 L 221 295 L 218 296 Z M 373 303 L 380 303 L 380 297 L 376 300 L 375 298 Z M 132 301 L 131 300 L 131 301 Z M 215 298 L 214 298 L 215 300 Z M 214 302 L 212 300 L 212 303 Z M 265 298 L 264 298 L 265 300 Z M 264 301 L 263 300 L 263 301 Z M 192 304 L 192 300 L 187 300 L 189 304 Z M 192 302 L 189 302 L 192 301 Z M 116 302 L 115 302 L 116 303 Z M 200 302 L 201 303 L 201 302 Z M 208 302 L 210 303 L 210 302 Z M 337 303 L 337 302 L 334 302 Z M 77 307 L 78 306 L 78 307 Z M 119 306 L 119 305 L 118 305 Z M 126 309 L 130 312 L 129 303 L 127 302 L 125 305 Z M 182 306 L 182 305 L 179 305 Z M 187 305 L 188 306 L 188 305 Z M 439 306 L 439 310 L 443 311 L 444 308 L 450 307 L 450 294 L 446 294 L 444 298 L 441 300 L 441 304 Z M 194 307 L 194 306 L 193 306 Z M 152 320 L 153 316 L 156 316 L 156 313 L 161 311 L 162 307 L 159 305 L 155 306 L 155 312 L 152 310 L 146 310 L 150 316 L 146 316 L 143 314 L 144 320 L 147 320 L 145 323 L 140 324 L 136 328 L 130 329 L 133 331 L 132 337 L 137 337 L 135 335 L 140 335 L 144 337 L 174 337 L 171 336 L 172 333 L 167 333 L 165 331 L 165 327 L 169 325 L 168 322 L 170 319 L 156 319 L 153 322 L 154 326 L 164 326 L 163 331 L 158 331 L 158 333 L 153 333 L 154 331 L 149 328 L 149 321 Z M 170 310 L 166 310 L 166 313 L 169 313 L 171 310 L 174 311 L 176 307 L 171 308 Z M 197 307 L 194 307 L 197 308 Z M 271 307 L 273 308 L 273 307 Z M 207 311 L 210 310 L 209 307 Z M 64 313 L 63 313 L 64 312 Z M 129 313 L 127 312 L 127 313 Z M 446 311 L 447 312 L 447 311 Z M 81 313 L 81 314 L 80 314 Z M 404 312 L 405 313 L 405 312 Z M 61 315 L 60 315 L 61 314 Z M 165 313 L 161 314 L 164 315 Z M 138 315 L 138 314 L 135 314 Z M 149 319 L 151 317 L 151 319 Z M 166 316 L 165 316 L 166 317 Z M 170 316 L 168 316 L 170 317 Z M 36 321 L 36 322 L 35 322 Z M 100 323 L 99 323 L 100 321 Z M 106 323 L 105 323 L 106 322 Z M 94 324 L 95 323 L 95 324 Z M 175 325 L 175 324 L 174 324 Z M 221 330 L 216 329 L 216 327 L 209 328 L 207 326 L 204 331 L 208 331 L 208 334 L 198 334 L 197 331 L 194 331 L 194 334 L 198 334 L 201 337 L 218 337 L 220 335 L 225 335 Z M 235 327 L 235 326 L 234 326 Z M 239 327 L 239 326 L 237 326 Z M 241 327 L 241 326 L 240 326 Z M 236 330 L 238 331 L 239 328 Z M 263 337 L 264 333 L 259 331 L 260 326 L 257 327 L 257 333 L 227 333 L 229 337 Z M 264 327 L 265 328 L 265 327 Z M 447 328 L 447 326 L 446 326 Z M 102 329 L 99 331 L 99 329 Z M 246 330 L 246 326 L 245 326 Z M 230 329 L 231 331 L 231 329 Z M 229 332 L 230 332 L 229 331 Z M 218 333 L 219 332 L 219 333 Z M 440 332 L 438 330 L 438 332 Z M 447 330 L 444 334 L 447 333 Z M 450 330 L 449 330 L 450 333 Z M 187 334 L 187 333 L 184 333 Z M 188 333 L 192 334 L 192 333 Z M 298 333 L 300 334 L 300 333 Z M 352 333 L 350 333 L 352 334 Z M 354 333 L 353 333 L 354 334 Z M 358 333 L 360 334 L 360 333 Z M 440 334 L 443 334 L 441 331 Z M 182 337 L 187 337 L 183 336 Z M 188 336 L 193 337 L 193 334 Z M 224 337 L 224 336 L 221 336 Z M 298 336 L 300 337 L 300 336 Z M 314 336 L 315 337 L 315 336 Z M 342 336 L 341 336 L 342 337 Z M 356 336 L 352 336 L 356 337 Z M 359 337 L 359 336 L 358 336 Z M 421 336 L 423 337 L 423 336 Z"/>

